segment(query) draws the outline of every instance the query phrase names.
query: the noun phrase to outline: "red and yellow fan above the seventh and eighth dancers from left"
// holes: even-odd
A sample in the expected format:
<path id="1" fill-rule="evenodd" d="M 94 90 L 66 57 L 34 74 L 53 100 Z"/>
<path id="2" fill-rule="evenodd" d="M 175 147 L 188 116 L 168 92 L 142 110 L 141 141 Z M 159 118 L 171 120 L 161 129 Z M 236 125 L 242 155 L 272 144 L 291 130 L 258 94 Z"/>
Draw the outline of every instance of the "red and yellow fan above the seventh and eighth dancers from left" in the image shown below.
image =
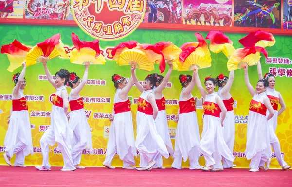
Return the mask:
<path id="1" fill-rule="evenodd" d="M 179 55 L 178 71 L 193 71 L 211 67 L 211 54 L 204 37 L 195 33 L 198 42 L 188 42 L 181 46 L 183 51 Z"/>

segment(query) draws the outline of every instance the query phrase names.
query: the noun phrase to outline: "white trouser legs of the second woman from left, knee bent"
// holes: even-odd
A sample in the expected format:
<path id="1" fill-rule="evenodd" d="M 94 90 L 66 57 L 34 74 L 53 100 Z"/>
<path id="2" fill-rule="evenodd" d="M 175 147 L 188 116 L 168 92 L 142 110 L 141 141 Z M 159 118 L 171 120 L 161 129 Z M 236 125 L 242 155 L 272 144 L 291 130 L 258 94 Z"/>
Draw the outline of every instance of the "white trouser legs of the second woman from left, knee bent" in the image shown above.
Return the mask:
<path id="1" fill-rule="evenodd" d="M 48 128 L 40 139 L 40 147 L 41 147 L 41 152 L 43 155 L 42 166 L 45 168 L 51 167 L 49 163 L 49 140 L 52 140 L 52 139 L 54 139 L 54 131 L 52 128 Z M 63 142 L 65 142 L 65 140 L 63 140 Z M 63 160 L 64 160 L 63 168 L 64 169 L 75 168 L 72 157 L 71 157 L 71 151 L 69 149 L 69 146 L 66 144 L 61 144 L 59 142 L 57 143 L 63 155 Z"/>

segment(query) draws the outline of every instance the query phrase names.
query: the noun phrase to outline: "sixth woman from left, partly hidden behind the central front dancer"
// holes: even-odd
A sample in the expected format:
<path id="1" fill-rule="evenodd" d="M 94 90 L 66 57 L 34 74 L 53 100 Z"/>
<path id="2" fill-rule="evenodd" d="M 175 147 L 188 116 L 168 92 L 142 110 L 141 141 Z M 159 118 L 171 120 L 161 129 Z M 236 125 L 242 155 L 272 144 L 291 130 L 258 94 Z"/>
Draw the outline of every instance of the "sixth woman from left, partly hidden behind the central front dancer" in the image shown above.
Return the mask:
<path id="1" fill-rule="evenodd" d="M 165 78 L 162 75 L 158 75 L 157 73 L 153 73 L 153 75 L 157 78 L 157 83 L 153 88 L 153 94 L 155 97 L 155 101 L 158 107 L 158 115 L 155 119 L 155 126 L 159 136 L 163 139 L 164 144 L 167 147 L 167 150 L 170 154 L 173 154 L 173 147 L 169 136 L 168 123 L 166 119 L 166 110 L 165 110 L 165 98 L 162 94 L 162 90 L 164 90 L 166 84 L 169 81 L 171 72 L 172 72 L 172 62 L 167 61 L 169 65 L 168 72 L 165 75 Z M 154 159 L 156 161 L 155 165 L 152 169 L 165 169 L 162 165 L 162 155 L 158 154 Z"/>

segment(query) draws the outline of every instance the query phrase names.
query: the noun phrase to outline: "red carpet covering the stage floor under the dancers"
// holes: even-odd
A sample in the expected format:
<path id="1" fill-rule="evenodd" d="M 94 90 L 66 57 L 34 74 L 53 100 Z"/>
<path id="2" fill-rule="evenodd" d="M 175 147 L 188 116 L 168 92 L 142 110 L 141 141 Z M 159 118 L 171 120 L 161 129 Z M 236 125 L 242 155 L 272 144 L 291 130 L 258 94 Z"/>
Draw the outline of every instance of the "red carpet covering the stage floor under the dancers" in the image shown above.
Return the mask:
<path id="1" fill-rule="evenodd" d="M 87 167 L 71 172 L 37 171 L 33 166 L 16 168 L 0 166 L 0 187 L 291 187 L 292 170 L 249 172 L 248 169 L 225 169 L 223 172 L 184 168 L 151 171 L 121 168 Z"/>

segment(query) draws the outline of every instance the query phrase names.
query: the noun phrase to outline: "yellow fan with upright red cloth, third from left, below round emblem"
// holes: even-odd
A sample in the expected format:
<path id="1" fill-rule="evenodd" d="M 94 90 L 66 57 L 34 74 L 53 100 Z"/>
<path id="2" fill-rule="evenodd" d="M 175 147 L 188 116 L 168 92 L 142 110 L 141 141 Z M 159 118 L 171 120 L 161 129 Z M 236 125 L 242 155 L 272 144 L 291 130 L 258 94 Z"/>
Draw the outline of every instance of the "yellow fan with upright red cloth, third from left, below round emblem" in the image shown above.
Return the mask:
<path id="1" fill-rule="evenodd" d="M 84 65 L 86 62 L 95 65 L 104 65 L 105 57 L 100 53 L 99 40 L 92 42 L 80 41 L 79 37 L 74 33 L 71 39 L 75 49 L 70 52 L 70 62 Z"/>

